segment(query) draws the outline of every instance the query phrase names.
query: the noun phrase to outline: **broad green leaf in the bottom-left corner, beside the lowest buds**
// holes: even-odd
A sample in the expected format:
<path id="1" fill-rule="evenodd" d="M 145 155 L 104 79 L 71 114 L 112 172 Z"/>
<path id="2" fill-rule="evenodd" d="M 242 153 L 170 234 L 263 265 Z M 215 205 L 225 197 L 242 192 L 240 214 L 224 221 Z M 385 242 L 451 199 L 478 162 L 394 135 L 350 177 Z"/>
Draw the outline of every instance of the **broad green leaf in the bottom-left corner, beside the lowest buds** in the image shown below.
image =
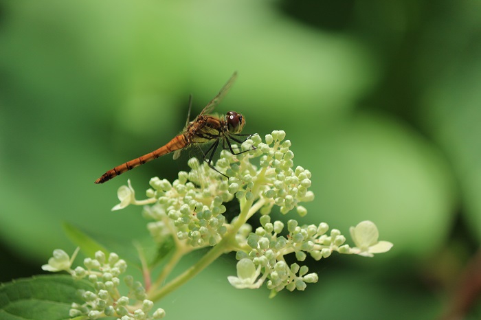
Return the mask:
<path id="1" fill-rule="evenodd" d="M 72 302 L 82 304 L 78 289 L 93 288 L 69 275 L 41 275 L 1 284 L 0 319 L 70 319 Z"/>

